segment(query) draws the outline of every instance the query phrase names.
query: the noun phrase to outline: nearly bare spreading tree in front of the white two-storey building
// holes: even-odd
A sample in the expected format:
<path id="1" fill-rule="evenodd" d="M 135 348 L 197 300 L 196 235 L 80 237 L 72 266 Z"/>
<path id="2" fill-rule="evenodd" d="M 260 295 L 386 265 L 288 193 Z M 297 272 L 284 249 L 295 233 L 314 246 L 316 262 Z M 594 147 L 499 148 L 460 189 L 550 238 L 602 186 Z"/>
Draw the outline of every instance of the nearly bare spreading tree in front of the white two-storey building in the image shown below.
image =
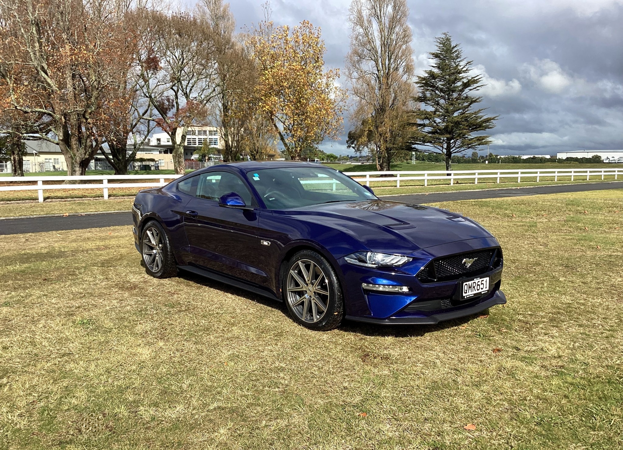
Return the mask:
<path id="1" fill-rule="evenodd" d="M 207 123 L 207 104 L 217 95 L 211 23 L 203 9 L 142 14 L 137 55 L 141 92 L 153 106 L 150 119 L 171 138 L 176 174 L 183 174 L 188 127 Z"/>

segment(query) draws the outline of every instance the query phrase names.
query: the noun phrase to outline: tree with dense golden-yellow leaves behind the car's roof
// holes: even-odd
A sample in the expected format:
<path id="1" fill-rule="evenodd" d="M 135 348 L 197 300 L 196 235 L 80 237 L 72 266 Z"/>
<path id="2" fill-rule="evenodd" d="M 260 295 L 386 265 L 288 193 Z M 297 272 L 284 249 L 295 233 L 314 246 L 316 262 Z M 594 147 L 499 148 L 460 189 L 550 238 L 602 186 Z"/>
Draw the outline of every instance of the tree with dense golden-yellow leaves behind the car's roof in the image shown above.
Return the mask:
<path id="1" fill-rule="evenodd" d="M 345 92 L 336 85 L 338 70 L 325 72 L 320 28 L 308 21 L 273 27 L 266 20 L 249 33 L 246 44 L 256 64 L 257 108 L 288 156 L 299 161 L 323 139 L 337 138 Z"/>

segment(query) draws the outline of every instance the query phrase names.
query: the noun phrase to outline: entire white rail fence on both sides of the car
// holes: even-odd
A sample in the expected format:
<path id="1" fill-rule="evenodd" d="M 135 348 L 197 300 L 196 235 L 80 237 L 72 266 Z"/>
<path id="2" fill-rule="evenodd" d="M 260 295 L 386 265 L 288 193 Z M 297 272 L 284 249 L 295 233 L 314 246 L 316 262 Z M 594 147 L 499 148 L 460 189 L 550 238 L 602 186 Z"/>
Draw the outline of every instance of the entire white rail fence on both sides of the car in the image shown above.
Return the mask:
<path id="1" fill-rule="evenodd" d="M 614 179 L 617 180 L 619 175 L 623 179 L 623 169 L 619 168 L 606 168 L 606 169 L 505 169 L 500 171 L 495 170 L 482 170 L 482 171 L 413 171 L 413 172 L 345 172 L 346 175 L 353 177 L 359 183 L 365 183 L 370 185 L 370 182 L 387 182 L 395 181 L 396 187 L 400 187 L 400 182 L 405 180 L 424 180 L 424 185 L 427 186 L 429 180 L 449 180 L 449 184 L 454 184 L 455 180 L 473 180 L 474 184 L 478 183 L 478 180 L 495 179 L 497 183 L 500 179 L 517 179 L 520 183 L 521 179 L 526 181 L 527 177 L 539 182 L 544 178 L 549 180 L 558 181 L 563 177 L 566 177 L 572 181 L 579 179 Z M 450 174 L 449 176 L 447 174 Z M 384 175 L 381 177 L 381 175 Z M 108 189 L 115 189 L 118 187 L 159 187 L 166 184 L 165 180 L 173 180 L 181 177 L 181 175 L 87 175 L 87 176 L 48 176 L 48 177 L 0 177 L 0 184 L 6 182 L 36 182 L 32 185 L 6 185 L 0 186 L 0 191 L 7 190 L 36 190 L 39 194 L 39 202 L 43 202 L 44 190 L 49 189 L 102 189 L 104 199 L 108 199 Z M 591 178 L 592 177 L 592 178 Z M 43 182 L 50 181 L 101 181 L 100 183 L 91 184 L 43 184 Z M 109 183 L 109 180 L 141 180 L 141 182 L 120 182 Z M 145 180 L 158 180 L 148 182 Z M 324 180 L 316 181 L 319 183 L 325 183 Z M 335 186 L 333 188 L 335 190 Z"/>

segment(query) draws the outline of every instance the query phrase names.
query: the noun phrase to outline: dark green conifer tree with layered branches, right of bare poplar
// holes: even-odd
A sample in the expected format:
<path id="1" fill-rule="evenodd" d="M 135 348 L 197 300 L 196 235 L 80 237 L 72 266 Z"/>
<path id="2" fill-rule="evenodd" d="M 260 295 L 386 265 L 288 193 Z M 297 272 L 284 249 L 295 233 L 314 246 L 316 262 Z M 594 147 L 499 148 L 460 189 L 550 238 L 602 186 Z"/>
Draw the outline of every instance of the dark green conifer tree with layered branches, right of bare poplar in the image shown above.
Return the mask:
<path id="1" fill-rule="evenodd" d="M 485 108 L 473 110 L 482 101 L 474 95 L 484 85 L 481 75 L 470 75 L 472 61 L 466 61 L 459 44 L 444 33 L 435 39 L 430 70 L 417 77 L 421 104 L 414 111 L 416 133 L 411 139 L 414 150 L 440 153 L 445 156 L 445 168 L 452 169 L 452 155 L 490 144 L 490 136 L 472 136 L 478 131 L 492 129 L 498 116 L 486 117 Z"/>

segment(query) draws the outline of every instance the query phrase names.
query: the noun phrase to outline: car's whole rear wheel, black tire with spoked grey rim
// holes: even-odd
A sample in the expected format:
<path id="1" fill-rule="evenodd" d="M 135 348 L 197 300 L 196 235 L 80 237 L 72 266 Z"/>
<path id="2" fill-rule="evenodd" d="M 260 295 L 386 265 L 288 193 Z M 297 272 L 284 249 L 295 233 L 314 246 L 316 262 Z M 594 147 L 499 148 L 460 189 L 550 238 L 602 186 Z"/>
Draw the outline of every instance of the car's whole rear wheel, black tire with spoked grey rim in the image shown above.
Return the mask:
<path id="1" fill-rule="evenodd" d="M 142 266 L 154 278 L 170 278 L 178 274 L 178 268 L 171 250 L 171 242 L 162 225 L 150 220 L 141 232 Z"/>

